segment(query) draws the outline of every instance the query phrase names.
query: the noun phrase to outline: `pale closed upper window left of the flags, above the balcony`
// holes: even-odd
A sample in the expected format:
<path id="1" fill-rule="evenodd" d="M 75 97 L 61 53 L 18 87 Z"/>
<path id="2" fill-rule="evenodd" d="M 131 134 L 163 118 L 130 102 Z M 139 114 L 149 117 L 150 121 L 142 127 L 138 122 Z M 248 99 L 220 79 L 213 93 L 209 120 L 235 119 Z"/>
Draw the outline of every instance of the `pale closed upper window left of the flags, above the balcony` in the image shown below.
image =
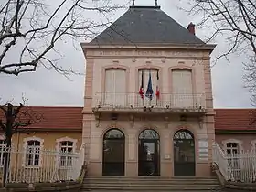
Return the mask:
<path id="1" fill-rule="evenodd" d="M 104 104 L 124 105 L 126 101 L 125 69 L 106 69 Z"/>

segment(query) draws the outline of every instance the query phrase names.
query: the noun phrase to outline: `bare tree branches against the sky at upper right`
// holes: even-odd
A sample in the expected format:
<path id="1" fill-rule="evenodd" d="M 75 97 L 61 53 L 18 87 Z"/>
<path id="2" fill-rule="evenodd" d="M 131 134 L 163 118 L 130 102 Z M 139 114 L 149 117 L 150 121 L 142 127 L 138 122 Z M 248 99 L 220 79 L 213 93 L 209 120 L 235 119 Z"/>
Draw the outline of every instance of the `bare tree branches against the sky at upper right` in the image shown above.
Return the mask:
<path id="1" fill-rule="evenodd" d="M 255 0 L 187 0 L 187 12 L 202 16 L 200 27 L 212 32 L 208 40 L 221 36 L 226 38 L 227 49 L 216 59 L 233 53 L 246 58 L 245 86 L 256 99 L 256 2 Z"/>

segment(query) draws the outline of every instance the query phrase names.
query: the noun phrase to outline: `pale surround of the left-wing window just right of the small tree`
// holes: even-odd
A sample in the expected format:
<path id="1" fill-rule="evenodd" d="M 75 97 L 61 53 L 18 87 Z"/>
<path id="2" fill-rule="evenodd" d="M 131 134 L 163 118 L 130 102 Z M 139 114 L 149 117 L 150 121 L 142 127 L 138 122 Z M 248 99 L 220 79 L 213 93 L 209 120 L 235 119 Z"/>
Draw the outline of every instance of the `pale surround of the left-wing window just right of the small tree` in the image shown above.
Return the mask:
<path id="1" fill-rule="evenodd" d="M 39 153 L 39 163 L 38 165 L 27 165 L 26 161 L 27 161 L 27 142 L 29 141 L 37 141 L 40 142 L 40 153 Z M 27 137 L 23 139 L 24 145 L 23 145 L 23 149 L 24 149 L 24 155 L 23 155 L 23 166 L 26 168 L 40 168 L 42 166 L 42 149 L 43 149 L 43 144 L 44 144 L 44 139 L 33 136 L 33 137 Z"/>

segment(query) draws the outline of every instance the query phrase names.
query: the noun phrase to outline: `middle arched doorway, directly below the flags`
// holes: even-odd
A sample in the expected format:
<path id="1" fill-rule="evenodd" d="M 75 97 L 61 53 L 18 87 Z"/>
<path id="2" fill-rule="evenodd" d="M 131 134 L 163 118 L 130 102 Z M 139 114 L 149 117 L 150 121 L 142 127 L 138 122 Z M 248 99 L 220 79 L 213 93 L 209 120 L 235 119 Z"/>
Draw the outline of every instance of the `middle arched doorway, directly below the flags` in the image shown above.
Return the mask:
<path id="1" fill-rule="evenodd" d="M 152 129 L 146 129 L 138 138 L 139 176 L 160 175 L 160 138 Z"/>

